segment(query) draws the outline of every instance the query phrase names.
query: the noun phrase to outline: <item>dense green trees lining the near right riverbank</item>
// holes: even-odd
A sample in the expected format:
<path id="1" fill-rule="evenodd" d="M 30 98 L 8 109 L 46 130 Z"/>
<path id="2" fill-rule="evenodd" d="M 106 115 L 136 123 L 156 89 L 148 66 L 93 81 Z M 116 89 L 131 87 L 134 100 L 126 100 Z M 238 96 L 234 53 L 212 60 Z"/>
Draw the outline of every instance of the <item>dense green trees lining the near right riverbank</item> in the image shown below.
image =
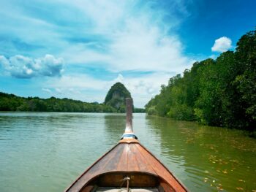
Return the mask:
<path id="1" fill-rule="evenodd" d="M 256 132 L 256 31 L 235 51 L 195 62 L 146 104 L 148 115 Z"/>

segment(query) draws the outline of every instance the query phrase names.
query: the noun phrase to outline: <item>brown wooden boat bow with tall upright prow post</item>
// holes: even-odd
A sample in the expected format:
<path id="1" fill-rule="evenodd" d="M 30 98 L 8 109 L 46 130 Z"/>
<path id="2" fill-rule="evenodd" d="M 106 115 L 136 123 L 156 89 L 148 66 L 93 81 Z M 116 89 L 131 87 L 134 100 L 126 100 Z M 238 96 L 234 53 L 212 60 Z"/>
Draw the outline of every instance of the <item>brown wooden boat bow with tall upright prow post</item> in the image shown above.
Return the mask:
<path id="1" fill-rule="evenodd" d="M 127 125 L 121 140 L 67 188 L 67 192 L 187 191 L 184 185 L 140 144 L 132 131 L 132 99 L 127 99 Z"/>

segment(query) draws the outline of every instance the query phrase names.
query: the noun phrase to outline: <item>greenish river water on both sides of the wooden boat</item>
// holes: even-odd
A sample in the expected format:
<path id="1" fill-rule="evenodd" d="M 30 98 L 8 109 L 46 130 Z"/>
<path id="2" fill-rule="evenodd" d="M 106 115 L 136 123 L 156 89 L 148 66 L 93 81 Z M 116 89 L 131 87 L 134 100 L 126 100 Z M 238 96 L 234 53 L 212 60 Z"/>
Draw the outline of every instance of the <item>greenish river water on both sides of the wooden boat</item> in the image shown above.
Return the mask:
<path id="1" fill-rule="evenodd" d="M 0 191 L 64 191 L 124 126 L 120 114 L 0 112 Z M 133 127 L 189 191 L 256 191 L 256 139 L 242 131 L 145 114 Z"/>

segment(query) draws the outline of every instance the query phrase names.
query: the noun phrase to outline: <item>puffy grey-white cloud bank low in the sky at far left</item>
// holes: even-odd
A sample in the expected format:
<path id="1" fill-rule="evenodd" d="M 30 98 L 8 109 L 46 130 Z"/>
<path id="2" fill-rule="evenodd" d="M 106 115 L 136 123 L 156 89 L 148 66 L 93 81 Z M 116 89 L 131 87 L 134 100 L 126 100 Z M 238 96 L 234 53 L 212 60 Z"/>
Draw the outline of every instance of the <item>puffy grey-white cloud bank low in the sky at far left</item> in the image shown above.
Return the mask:
<path id="1" fill-rule="evenodd" d="M 64 71 L 64 59 L 55 58 L 53 55 L 35 59 L 23 55 L 15 55 L 10 58 L 0 55 L 0 64 L 5 72 L 17 78 L 60 77 Z"/>

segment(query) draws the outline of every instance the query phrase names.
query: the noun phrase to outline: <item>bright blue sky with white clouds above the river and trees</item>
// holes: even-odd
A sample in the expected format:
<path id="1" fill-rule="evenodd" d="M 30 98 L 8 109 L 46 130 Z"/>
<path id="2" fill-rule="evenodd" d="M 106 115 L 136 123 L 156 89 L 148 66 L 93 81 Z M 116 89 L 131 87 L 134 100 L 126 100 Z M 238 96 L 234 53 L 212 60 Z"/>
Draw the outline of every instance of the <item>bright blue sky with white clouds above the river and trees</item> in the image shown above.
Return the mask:
<path id="1" fill-rule="evenodd" d="M 235 50 L 255 0 L 0 0 L 0 91 L 102 103 L 122 82 L 135 107 L 195 61 Z"/>

